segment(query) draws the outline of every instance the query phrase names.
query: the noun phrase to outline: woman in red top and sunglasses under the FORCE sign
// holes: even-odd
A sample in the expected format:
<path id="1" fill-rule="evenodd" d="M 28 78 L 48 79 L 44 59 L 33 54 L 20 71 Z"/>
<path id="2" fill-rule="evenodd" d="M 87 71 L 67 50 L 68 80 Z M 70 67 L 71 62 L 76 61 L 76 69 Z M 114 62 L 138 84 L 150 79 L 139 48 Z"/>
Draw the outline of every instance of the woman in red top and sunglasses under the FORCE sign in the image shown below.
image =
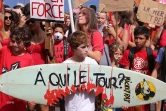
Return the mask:
<path id="1" fill-rule="evenodd" d="M 30 18 L 30 4 L 25 5 L 24 15 L 26 16 L 26 26 L 29 27 L 33 33 L 31 39 L 31 46 L 27 48 L 27 51 L 34 59 L 34 65 L 45 64 L 46 51 L 45 51 L 45 37 L 46 32 L 40 27 L 40 21 Z M 49 111 L 49 106 L 28 104 L 29 111 Z"/>

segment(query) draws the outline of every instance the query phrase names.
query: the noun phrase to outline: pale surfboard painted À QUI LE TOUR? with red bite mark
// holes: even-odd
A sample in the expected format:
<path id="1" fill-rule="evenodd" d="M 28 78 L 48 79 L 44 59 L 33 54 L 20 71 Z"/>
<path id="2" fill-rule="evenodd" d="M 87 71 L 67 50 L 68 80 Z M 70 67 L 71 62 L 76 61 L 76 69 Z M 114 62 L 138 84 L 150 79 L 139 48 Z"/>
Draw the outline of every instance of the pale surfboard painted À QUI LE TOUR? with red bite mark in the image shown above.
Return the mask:
<path id="1" fill-rule="evenodd" d="M 53 105 L 76 91 L 102 94 L 112 108 L 149 104 L 166 98 L 166 84 L 145 74 L 110 66 L 45 64 L 2 74 L 0 91 L 38 104 Z"/>

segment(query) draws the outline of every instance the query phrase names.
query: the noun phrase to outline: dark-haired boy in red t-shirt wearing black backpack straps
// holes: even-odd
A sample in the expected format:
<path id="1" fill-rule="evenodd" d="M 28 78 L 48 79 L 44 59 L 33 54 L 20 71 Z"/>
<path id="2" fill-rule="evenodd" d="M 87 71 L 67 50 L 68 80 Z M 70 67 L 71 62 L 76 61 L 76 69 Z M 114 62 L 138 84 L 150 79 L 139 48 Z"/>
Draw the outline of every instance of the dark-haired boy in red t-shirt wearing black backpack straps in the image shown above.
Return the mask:
<path id="1" fill-rule="evenodd" d="M 151 73 L 154 67 L 151 63 L 152 62 L 154 63 L 157 53 L 154 50 L 146 47 L 146 42 L 149 39 L 149 36 L 150 36 L 150 30 L 146 28 L 145 26 L 139 26 L 135 28 L 134 41 L 135 41 L 136 47 L 130 50 L 126 50 L 120 61 L 120 64 L 125 69 L 141 72 L 151 76 Z M 132 52 L 132 55 L 134 56 L 132 60 L 129 59 L 131 52 Z M 150 55 L 149 53 L 151 53 L 151 56 L 149 56 Z M 150 59 L 150 57 L 152 57 L 152 59 Z M 150 105 L 148 104 L 148 105 L 142 105 L 138 107 L 132 107 L 132 108 L 129 108 L 127 111 L 130 111 L 133 108 L 134 108 L 134 111 L 137 111 L 137 109 L 140 109 L 141 111 L 149 111 Z"/>

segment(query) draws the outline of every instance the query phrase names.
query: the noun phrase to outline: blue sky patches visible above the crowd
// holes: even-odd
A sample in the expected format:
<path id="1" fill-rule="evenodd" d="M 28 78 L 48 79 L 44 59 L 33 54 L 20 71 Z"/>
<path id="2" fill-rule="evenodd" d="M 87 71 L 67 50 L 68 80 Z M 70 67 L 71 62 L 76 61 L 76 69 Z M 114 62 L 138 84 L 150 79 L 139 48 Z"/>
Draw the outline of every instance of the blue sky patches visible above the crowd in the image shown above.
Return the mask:
<path id="1" fill-rule="evenodd" d="M 69 12 L 68 11 L 68 0 L 64 0 L 65 2 L 65 6 L 64 6 L 64 8 L 65 8 L 65 12 Z M 9 5 L 11 8 L 13 7 L 13 6 L 15 6 L 17 3 L 23 3 L 24 4 L 24 2 L 25 3 L 29 3 L 30 2 L 30 0 L 4 0 L 4 2 L 5 2 L 5 4 L 7 4 L 7 5 Z M 99 3 L 99 0 L 89 0 L 86 4 L 85 4 L 85 6 L 90 6 L 90 5 L 96 5 L 97 7 L 98 7 L 98 3 Z"/>

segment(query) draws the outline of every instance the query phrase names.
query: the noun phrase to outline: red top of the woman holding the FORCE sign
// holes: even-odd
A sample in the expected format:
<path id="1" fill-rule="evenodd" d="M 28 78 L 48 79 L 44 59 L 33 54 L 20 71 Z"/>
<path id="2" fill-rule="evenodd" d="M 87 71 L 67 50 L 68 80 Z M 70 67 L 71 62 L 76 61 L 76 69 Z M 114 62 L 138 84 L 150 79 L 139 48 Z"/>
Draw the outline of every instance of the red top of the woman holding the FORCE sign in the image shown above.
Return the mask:
<path id="1" fill-rule="evenodd" d="M 34 65 L 45 64 L 45 42 L 41 44 L 32 44 L 31 46 L 27 47 L 27 52 L 32 55 Z"/>

